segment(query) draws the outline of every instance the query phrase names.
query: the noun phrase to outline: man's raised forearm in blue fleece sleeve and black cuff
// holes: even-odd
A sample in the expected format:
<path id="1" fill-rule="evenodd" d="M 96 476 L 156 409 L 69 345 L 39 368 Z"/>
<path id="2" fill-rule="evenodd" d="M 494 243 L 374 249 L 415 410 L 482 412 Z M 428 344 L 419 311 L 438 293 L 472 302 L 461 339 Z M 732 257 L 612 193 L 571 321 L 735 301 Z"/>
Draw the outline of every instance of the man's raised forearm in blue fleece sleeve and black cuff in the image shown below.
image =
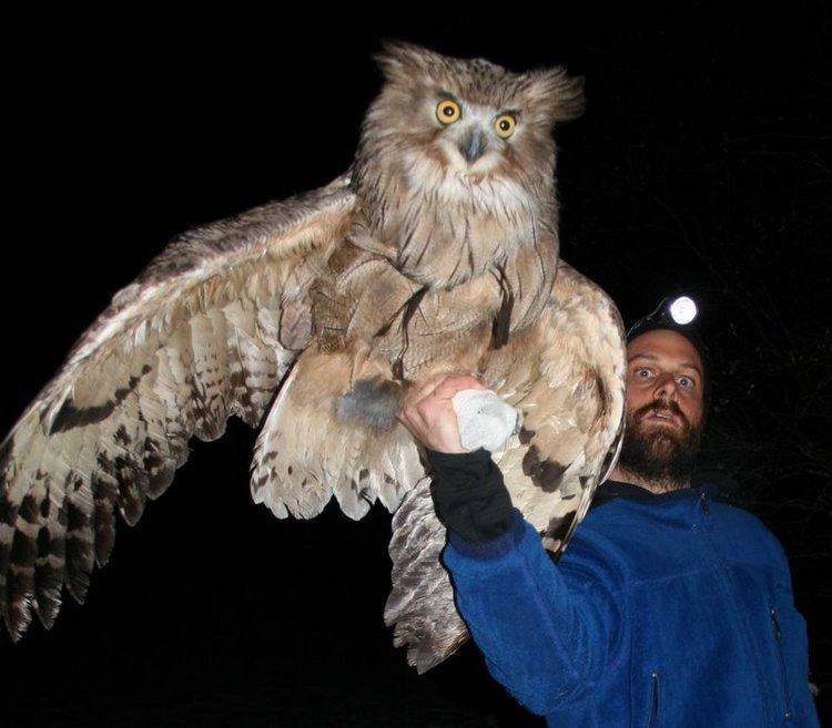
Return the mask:
<path id="1" fill-rule="evenodd" d="M 434 503 L 449 530 L 443 563 L 489 671 L 534 712 L 582 700 L 620 634 L 607 585 L 587 588 L 591 564 L 575 583 L 555 567 L 487 451 L 427 454 Z"/>

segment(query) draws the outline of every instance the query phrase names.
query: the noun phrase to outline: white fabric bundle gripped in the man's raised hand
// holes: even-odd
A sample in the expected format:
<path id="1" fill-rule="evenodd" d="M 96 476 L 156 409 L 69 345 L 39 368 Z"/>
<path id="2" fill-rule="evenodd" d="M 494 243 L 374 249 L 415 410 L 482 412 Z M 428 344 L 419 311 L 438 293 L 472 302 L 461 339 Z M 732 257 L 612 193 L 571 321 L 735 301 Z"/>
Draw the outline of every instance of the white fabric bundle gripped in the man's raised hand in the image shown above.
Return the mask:
<path id="1" fill-rule="evenodd" d="M 519 428 L 519 414 L 490 389 L 463 389 L 450 400 L 459 425 L 459 442 L 468 452 L 499 450 Z"/>

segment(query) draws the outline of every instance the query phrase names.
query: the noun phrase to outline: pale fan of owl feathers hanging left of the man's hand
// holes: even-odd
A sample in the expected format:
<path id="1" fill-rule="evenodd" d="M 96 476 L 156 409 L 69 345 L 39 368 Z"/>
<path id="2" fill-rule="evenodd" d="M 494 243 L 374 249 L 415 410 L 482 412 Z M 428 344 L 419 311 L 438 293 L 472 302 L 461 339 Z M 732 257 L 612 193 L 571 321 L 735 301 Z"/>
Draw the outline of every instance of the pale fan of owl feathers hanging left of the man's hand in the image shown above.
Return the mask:
<path id="1" fill-rule="evenodd" d="M 257 437 L 254 501 L 277 517 L 314 517 L 333 494 L 355 520 L 376 500 L 395 511 L 424 474 L 396 419 L 399 392 L 383 360 L 305 351 Z"/>

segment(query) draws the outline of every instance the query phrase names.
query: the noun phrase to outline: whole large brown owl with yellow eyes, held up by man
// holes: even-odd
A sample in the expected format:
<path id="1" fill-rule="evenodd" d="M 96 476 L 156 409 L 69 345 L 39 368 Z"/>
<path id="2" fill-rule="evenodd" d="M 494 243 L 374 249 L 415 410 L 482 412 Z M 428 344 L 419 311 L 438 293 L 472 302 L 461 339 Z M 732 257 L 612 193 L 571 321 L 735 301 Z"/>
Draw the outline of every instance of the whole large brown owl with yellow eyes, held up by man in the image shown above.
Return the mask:
<path id="1" fill-rule="evenodd" d="M 562 69 L 389 43 L 355 162 L 332 184 L 180 236 L 83 334 L 0 447 L 0 607 L 14 639 L 83 601 L 114 512 L 134 524 L 236 414 L 260 428 L 251 490 L 278 517 L 334 494 L 390 512 L 395 642 L 425 670 L 466 638 L 408 388 L 481 378 L 522 428 L 495 453 L 556 552 L 613 464 L 623 344 L 609 298 L 558 260 L 552 126 Z"/>

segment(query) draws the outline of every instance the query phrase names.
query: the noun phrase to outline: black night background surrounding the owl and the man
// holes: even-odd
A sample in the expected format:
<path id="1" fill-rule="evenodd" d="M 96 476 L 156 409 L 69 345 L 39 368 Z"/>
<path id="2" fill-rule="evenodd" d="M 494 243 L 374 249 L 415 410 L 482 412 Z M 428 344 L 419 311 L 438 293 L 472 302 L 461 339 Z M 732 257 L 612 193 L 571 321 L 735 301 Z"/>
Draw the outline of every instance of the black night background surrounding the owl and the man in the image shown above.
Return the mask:
<path id="1" fill-rule="evenodd" d="M 669 293 L 700 299 L 717 371 L 703 468 L 784 544 L 828 710 L 832 10 L 670 6 L 44 10 L 9 25 L 0 429 L 173 235 L 348 166 L 381 38 L 565 64 L 588 104 L 556 134 L 562 256 L 628 321 Z M 171 490 L 120 524 L 85 606 L 68 596 L 19 645 L 0 635 L 3 727 L 542 725 L 470 645 L 425 676 L 407 667 L 382 618 L 388 514 L 275 520 L 248 495 L 253 442 L 236 420 L 194 441 Z"/>

